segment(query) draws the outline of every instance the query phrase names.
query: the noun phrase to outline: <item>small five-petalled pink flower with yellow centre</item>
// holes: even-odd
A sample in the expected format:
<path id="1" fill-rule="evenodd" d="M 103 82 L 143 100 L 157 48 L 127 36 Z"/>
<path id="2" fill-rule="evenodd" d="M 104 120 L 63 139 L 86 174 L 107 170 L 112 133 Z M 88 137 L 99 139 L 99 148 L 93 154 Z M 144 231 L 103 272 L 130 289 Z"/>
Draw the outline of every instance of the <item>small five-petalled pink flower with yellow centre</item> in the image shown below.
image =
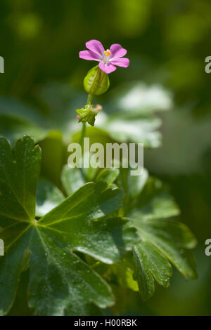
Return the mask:
<path id="1" fill-rule="evenodd" d="M 110 49 L 105 51 L 103 45 L 98 40 L 90 40 L 86 42 L 89 51 L 80 51 L 79 58 L 84 60 L 96 60 L 99 62 L 98 67 L 106 73 L 115 71 L 118 67 L 128 67 L 129 58 L 123 58 L 127 53 L 126 49 L 119 44 L 113 44 Z"/>

